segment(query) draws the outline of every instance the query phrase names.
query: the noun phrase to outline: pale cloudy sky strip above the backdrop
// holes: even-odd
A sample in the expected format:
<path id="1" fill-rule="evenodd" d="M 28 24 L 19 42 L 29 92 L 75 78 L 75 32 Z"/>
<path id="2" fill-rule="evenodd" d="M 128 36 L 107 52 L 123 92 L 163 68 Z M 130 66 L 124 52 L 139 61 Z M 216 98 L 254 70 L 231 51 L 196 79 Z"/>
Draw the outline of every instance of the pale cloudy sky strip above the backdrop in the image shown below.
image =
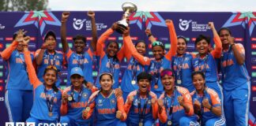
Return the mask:
<path id="1" fill-rule="evenodd" d="M 51 10 L 121 11 L 126 0 L 49 0 Z M 138 11 L 236 12 L 256 11 L 256 0 L 130 0 Z"/>

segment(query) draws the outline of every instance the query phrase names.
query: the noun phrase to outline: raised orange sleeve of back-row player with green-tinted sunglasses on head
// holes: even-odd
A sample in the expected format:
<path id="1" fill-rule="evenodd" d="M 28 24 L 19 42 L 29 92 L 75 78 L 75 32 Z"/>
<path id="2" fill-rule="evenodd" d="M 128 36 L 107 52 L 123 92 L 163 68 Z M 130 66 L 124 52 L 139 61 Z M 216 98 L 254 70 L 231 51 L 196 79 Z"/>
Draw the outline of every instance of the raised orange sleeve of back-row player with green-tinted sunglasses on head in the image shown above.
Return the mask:
<path id="1" fill-rule="evenodd" d="M 176 50 L 177 50 L 177 35 L 176 31 L 174 28 L 174 24 L 171 20 L 171 23 L 168 24 L 168 30 L 169 30 L 169 35 L 170 35 L 170 40 L 171 40 L 171 48 L 169 49 L 168 53 L 165 54 L 165 58 L 167 58 L 169 61 L 171 61 L 171 57 L 175 56 Z"/>

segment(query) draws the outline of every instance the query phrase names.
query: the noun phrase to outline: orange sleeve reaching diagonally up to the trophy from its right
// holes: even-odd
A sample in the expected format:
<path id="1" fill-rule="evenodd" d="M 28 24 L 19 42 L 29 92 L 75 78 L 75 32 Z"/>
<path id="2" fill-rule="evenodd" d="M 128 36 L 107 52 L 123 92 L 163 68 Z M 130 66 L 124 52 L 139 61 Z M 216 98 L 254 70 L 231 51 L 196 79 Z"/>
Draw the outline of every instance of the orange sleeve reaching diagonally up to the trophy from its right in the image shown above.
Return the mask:
<path id="1" fill-rule="evenodd" d="M 131 53 L 132 56 L 141 63 L 141 65 L 150 65 L 149 57 L 144 57 L 137 52 L 134 43 L 132 43 L 132 40 L 130 39 L 130 35 L 125 36 L 123 39 L 124 42 L 127 44 L 127 49 L 129 50 L 127 52 Z"/>

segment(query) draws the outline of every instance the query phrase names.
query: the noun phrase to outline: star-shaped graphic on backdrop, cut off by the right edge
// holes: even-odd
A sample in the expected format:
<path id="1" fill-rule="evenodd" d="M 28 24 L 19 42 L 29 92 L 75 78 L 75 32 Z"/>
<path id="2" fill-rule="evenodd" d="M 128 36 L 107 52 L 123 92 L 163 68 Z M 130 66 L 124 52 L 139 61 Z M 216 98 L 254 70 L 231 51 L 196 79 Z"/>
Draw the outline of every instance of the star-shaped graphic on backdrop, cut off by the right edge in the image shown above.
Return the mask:
<path id="1" fill-rule="evenodd" d="M 246 25 L 248 24 L 248 26 Z M 256 13 L 233 13 L 231 17 L 226 21 L 222 27 L 233 27 L 237 25 L 242 25 L 243 28 L 248 27 L 249 33 L 254 31 L 254 26 L 256 24 Z"/>

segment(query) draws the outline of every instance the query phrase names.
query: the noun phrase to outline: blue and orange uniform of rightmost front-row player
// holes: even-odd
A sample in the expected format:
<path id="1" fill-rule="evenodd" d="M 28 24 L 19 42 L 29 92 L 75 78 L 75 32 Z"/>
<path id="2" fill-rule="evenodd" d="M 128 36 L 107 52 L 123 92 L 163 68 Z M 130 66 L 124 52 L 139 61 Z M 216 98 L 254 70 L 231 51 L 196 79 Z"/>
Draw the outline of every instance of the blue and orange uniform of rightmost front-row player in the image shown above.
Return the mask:
<path id="1" fill-rule="evenodd" d="M 211 106 L 213 106 L 213 107 L 220 106 L 221 107 L 220 98 L 217 95 L 216 91 L 214 91 L 211 88 L 206 87 L 205 91 L 204 91 L 204 95 L 198 95 L 197 91 L 192 91 L 190 95 L 193 99 L 193 104 L 194 104 L 195 100 L 198 100 L 198 102 L 201 103 L 201 112 L 199 114 L 199 115 L 201 115 L 200 116 L 201 125 L 203 125 L 203 126 L 215 126 L 215 125 L 224 126 L 224 125 L 226 125 L 225 120 L 222 116 L 217 117 L 210 109 L 207 109 L 202 106 L 203 99 L 208 98 L 209 104 Z"/>

